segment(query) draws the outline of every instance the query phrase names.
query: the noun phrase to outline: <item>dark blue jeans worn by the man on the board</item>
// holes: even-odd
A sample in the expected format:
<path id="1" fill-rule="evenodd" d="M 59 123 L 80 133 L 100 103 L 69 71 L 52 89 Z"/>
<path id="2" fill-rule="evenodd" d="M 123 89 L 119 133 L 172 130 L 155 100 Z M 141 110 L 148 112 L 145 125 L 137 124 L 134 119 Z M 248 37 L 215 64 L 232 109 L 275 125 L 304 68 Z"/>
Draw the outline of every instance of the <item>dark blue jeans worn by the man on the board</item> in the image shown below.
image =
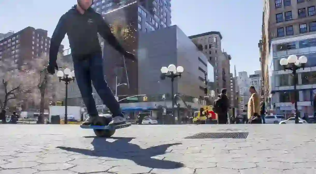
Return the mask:
<path id="1" fill-rule="evenodd" d="M 102 53 L 73 57 L 75 77 L 89 115 L 99 115 L 92 95 L 92 84 L 112 116 L 123 116 L 119 102 L 104 80 Z M 91 83 L 92 82 L 92 83 Z"/>

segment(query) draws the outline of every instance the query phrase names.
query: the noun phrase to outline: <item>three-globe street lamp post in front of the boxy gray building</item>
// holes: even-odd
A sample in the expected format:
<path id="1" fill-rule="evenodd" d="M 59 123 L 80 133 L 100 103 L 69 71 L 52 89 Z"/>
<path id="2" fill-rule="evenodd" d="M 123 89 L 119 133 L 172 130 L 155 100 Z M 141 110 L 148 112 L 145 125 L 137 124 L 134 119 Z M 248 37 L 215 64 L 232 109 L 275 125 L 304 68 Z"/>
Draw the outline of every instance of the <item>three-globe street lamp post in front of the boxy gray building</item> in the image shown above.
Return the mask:
<path id="1" fill-rule="evenodd" d="M 172 123 L 174 124 L 174 92 L 173 92 L 173 81 L 177 77 L 181 77 L 181 74 L 183 73 L 183 67 L 178 66 L 176 67 L 175 65 L 171 64 L 168 67 L 163 66 L 161 67 L 161 79 L 164 80 L 166 77 L 171 78 L 171 103 L 172 103 L 172 108 L 171 108 L 171 113 L 172 113 Z"/>

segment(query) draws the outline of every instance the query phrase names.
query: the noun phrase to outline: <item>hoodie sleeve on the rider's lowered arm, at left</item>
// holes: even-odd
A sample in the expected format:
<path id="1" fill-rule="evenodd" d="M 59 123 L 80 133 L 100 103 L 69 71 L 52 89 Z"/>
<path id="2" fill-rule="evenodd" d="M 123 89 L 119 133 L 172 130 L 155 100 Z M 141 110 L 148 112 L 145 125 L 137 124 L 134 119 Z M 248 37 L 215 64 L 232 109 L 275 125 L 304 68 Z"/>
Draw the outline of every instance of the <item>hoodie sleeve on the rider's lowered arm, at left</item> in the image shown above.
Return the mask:
<path id="1" fill-rule="evenodd" d="M 50 65 L 56 64 L 59 47 L 66 34 L 65 18 L 65 15 L 61 16 L 51 38 L 51 45 L 49 47 Z"/>

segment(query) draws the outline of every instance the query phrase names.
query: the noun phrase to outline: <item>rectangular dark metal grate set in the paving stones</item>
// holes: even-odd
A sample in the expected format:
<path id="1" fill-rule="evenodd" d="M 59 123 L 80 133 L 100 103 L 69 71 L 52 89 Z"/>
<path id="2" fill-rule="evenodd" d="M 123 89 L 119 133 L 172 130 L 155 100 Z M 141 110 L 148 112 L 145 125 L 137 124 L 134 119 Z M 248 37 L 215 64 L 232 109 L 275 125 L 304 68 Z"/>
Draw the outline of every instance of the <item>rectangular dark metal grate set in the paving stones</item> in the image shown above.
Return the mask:
<path id="1" fill-rule="evenodd" d="M 185 139 L 207 139 L 207 138 L 239 138 L 246 139 L 249 132 L 201 132 Z"/>

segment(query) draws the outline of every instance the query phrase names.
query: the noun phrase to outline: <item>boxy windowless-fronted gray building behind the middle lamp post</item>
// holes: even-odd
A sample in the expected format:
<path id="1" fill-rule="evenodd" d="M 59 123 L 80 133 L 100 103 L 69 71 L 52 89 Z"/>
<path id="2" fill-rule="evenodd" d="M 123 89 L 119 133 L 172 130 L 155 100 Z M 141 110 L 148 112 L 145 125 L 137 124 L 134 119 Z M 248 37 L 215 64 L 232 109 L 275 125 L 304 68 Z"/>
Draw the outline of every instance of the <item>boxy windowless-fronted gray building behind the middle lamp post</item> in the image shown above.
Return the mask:
<path id="1" fill-rule="evenodd" d="M 140 93 L 170 94 L 171 81 L 160 80 L 160 69 L 174 64 L 184 67 L 182 77 L 174 82 L 174 92 L 203 102 L 207 58 L 178 26 L 140 34 L 138 48 Z"/>

